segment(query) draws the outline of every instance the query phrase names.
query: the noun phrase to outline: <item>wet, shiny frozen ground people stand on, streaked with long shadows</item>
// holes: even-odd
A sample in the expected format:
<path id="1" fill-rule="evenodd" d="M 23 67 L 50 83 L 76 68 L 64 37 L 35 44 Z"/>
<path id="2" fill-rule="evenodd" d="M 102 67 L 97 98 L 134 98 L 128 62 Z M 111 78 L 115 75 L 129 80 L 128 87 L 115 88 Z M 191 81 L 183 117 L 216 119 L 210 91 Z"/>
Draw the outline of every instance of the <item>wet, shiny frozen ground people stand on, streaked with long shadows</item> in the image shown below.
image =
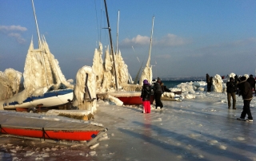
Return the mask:
<path id="1" fill-rule="evenodd" d="M 0 159 L 256 160 L 256 125 L 236 120 L 241 97 L 236 110 L 227 108 L 222 93 L 162 102 L 164 108 L 152 108 L 150 114 L 143 114 L 141 107 L 99 103 L 94 121 L 108 132 L 94 148 L 0 138 Z M 256 118 L 254 100 L 251 106 Z"/>

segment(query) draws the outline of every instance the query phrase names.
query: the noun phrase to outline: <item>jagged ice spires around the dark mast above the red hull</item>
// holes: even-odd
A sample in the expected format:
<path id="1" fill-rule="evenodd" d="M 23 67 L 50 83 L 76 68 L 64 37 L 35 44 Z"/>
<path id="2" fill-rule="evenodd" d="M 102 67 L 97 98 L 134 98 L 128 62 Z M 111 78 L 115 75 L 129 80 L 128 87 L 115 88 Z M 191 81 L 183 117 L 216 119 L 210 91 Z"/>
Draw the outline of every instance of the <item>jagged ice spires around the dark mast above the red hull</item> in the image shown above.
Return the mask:
<path id="1" fill-rule="evenodd" d="M 120 51 L 118 54 L 114 54 L 116 73 L 114 73 L 114 61 L 110 57 L 109 47 L 105 49 L 104 61 L 102 55 L 102 44 L 99 43 L 98 49 L 94 51 L 94 61 L 92 65 L 96 76 L 96 91 L 98 93 L 114 92 L 116 90 L 114 74 L 117 75 L 118 89 L 134 91 L 138 88 L 138 85 L 128 84 L 128 82 L 133 83 L 133 81 L 130 77 L 128 66 L 125 61 L 123 61 Z"/>

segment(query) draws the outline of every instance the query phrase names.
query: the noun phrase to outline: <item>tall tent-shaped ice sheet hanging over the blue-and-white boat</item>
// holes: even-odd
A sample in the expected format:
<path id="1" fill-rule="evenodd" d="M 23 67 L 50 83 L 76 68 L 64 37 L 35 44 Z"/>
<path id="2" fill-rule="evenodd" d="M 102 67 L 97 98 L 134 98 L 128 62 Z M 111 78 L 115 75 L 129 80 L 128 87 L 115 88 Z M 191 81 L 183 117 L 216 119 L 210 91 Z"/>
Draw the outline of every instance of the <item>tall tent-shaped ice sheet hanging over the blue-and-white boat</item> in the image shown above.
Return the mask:
<path id="1" fill-rule="evenodd" d="M 39 49 L 34 49 L 33 41 L 31 41 L 26 55 L 23 77 L 24 87 L 28 95 L 32 94 L 37 88 L 54 84 L 58 86 L 62 83 L 73 88 L 62 74 L 58 60 L 50 53 L 45 38 L 42 41 L 39 40 Z"/>

